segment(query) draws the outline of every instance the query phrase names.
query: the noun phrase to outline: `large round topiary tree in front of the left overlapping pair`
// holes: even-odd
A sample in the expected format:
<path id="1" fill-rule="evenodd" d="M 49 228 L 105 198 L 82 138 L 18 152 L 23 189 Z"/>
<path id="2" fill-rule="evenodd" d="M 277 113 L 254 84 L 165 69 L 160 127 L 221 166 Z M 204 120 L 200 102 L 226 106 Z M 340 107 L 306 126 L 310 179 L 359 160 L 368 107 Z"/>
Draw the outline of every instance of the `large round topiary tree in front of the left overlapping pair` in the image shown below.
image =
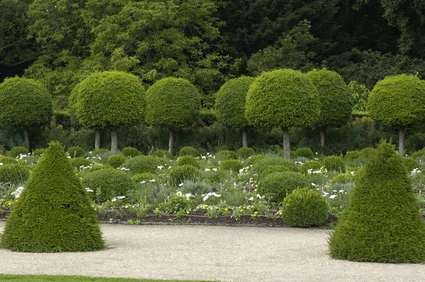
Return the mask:
<path id="1" fill-rule="evenodd" d="M 111 152 L 118 152 L 117 128 L 142 123 L 145 89 L 125 72 L 96 72 L 80 82 L 75 113 L 87 128 L 111 130 Z"/>

